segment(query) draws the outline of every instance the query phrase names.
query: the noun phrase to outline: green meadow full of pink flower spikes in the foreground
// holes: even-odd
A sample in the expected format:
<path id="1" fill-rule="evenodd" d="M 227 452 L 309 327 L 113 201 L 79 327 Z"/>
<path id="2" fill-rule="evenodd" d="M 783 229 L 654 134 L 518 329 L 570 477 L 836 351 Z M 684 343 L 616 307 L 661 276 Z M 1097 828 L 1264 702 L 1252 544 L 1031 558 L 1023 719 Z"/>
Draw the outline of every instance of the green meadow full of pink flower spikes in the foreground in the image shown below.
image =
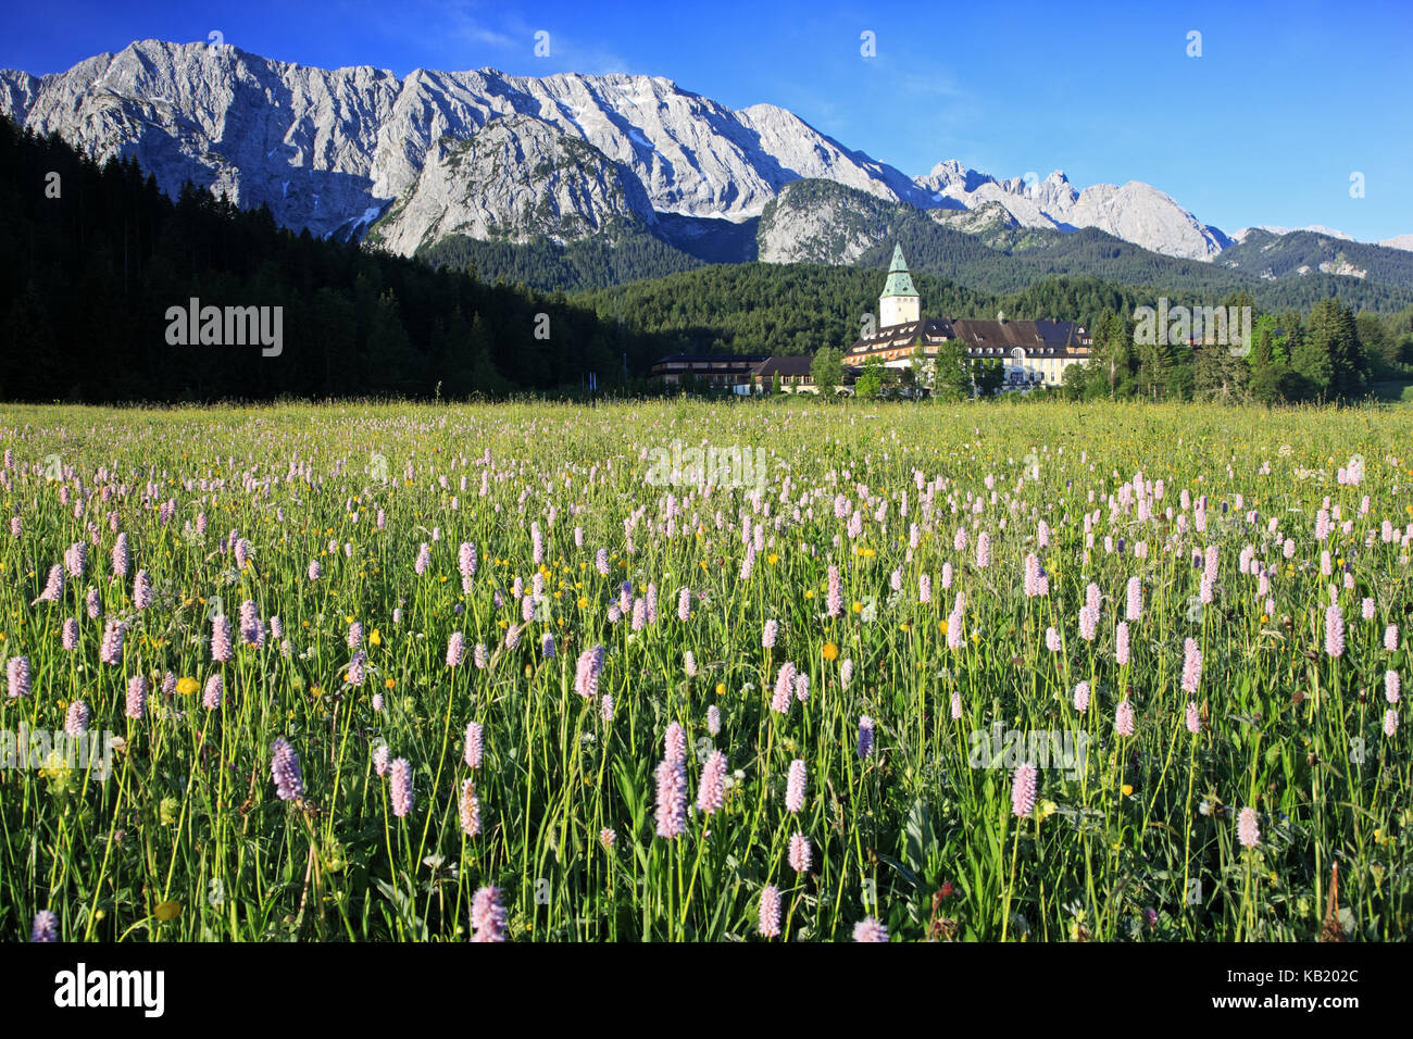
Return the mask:
<path id="1" fill-rule="evenodd" d="M 1413 923 L 1407 413 L 55 406 L 0 444 L 6 940 Z M 711 471 L 649 479 L 674 444 Z"/>

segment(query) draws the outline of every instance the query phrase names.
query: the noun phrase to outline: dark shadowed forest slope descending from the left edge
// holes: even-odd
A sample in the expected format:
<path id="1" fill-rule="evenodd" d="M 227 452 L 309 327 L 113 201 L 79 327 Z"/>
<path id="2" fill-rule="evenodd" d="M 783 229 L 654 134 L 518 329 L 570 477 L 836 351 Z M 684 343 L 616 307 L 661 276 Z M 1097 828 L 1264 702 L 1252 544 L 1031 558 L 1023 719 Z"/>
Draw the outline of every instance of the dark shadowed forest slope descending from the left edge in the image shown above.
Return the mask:
<path id="1" fill-rule="evenodd" d="M 171 345 L 171 307 L 280 307 L 283 351 Z M 273 311 L 271 311 L 273 312 Z M 544 317 L 541 317 L 544 315 Z M 277 228 L 0 120 L 0 399 L 447 397 L 642 372 L 661 345 L 562 294 Z"/>

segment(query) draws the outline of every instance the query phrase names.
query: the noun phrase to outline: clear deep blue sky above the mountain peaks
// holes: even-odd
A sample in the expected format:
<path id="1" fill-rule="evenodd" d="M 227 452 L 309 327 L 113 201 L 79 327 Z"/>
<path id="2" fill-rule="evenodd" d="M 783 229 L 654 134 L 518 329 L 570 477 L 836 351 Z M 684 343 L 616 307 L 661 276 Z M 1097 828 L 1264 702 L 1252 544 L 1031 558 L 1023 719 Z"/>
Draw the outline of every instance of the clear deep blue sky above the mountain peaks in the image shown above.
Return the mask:
<path id="1" fill-rule="evenodd" d="M 6 16 L 0 66 L 58 72 L 134 38 L 307 65 L 667 76 L 781 105 L 907 174 L 944 158 L 1080 188 L 1147 181 L 1228 232 L 1413 233 L 1413 4 L 119 3 Z M 550 55 L 536 57 L 536 33 Z M 1188 57 L 1188 34 L 1201 57 Z M 873 33 L 875 57 L 863 57 Z M 1351 196 L 1362 174 L 1364 196 Z"/>

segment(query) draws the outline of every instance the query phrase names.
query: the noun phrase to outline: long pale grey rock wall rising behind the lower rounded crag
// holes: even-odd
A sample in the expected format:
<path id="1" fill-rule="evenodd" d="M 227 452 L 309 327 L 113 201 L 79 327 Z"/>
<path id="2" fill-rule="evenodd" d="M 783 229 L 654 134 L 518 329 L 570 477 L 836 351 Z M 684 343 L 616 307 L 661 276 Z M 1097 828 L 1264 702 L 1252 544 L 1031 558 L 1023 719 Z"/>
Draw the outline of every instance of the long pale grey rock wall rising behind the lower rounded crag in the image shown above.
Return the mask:
<path id="1" fill-rule="evenodd" d="M 732 112 L 654 76 L 418 69 L 398 79 L 146 40 L 58 75 L 0 72 L 0 110 L 100 161 L 136 154 L 164 191 L 191 180 L 318 235 L 360 233 L 417 184 L 437 141 L 509 115 L 598 148 L 622 171 L 630 205 L 647 199 L 644 221 L 653 211 L 742 221 L 801 177 L 920 195 L 897 170 L 784 109 Z M 406 226 L 397 236 L 404 247 L 420 239 Z"/>

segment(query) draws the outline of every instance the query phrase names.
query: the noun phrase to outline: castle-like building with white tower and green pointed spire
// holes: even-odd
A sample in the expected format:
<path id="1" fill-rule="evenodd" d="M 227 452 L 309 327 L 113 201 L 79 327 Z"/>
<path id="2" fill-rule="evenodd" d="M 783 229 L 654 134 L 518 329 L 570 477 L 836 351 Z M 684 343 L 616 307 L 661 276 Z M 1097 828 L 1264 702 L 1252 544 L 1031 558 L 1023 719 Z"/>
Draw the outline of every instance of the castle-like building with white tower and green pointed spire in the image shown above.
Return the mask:
<path id="1" fill-rule="evenodd" d="M 879 324 L 862 335 L 844 355 L 845 366 L 862 368 L 882 358 L 887 368 L 909 368 L 921 348 L 935 358 L 942 344 L 961 342 L 968 360 L 998 360 L 1003 365 L 1003 389 L 1029 392 L 1060 386 L 1070 365 L 1089 359 L 1089 334 L 1075 321 L 1016 321 L 998 314 L 995 321 L 971 318 L 923 318 L 921 300 L 903 259 L 903 246 L 893 247 Z"/>

